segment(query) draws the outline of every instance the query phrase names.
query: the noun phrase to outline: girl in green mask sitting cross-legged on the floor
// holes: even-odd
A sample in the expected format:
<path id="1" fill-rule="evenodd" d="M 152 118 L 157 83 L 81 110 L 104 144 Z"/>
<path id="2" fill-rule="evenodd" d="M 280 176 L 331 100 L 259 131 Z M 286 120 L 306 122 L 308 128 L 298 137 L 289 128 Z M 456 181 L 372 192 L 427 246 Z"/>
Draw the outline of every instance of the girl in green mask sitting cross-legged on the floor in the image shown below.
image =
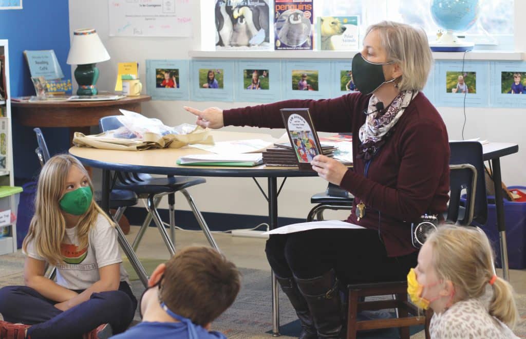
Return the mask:
<path id="1" fill-rule="evenodd" d="M 38 339 L 126 330 L 137 300 L 114 227 L 93 200 L 82 164 L 69 155 L 50 158 L 38 178 L 35 214 L 23 243 L 27 285 L 0 289 L 0 333 Z M 46 262 L 56 266 L 56 282 L 44 276 Z"/>

